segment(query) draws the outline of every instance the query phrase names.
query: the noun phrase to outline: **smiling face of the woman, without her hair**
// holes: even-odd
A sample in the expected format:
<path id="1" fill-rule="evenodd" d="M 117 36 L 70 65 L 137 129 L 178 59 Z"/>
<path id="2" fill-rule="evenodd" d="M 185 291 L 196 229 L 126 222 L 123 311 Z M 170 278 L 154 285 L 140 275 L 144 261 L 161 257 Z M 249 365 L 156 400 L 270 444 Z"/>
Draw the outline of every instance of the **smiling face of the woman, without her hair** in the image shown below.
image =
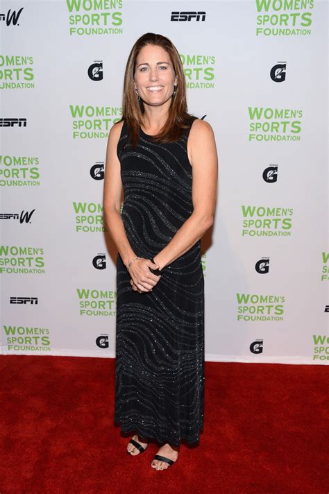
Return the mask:
<path id="1" fill-rule="evenodd" d="M 177 84 L 169 53 L 162 46 L 146 44 L 136 58 L 135 88 L 147 105 L 159 106 L 168 101 Z"/>

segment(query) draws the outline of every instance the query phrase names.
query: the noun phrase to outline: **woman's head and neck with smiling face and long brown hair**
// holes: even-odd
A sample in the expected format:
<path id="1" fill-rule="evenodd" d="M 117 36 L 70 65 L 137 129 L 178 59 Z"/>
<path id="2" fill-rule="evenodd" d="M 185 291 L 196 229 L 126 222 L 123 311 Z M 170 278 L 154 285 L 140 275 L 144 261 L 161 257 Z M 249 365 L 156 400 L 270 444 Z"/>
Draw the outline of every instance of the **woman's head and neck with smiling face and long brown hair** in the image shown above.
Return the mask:
<path id="1" fill-rule="evenodd" d="M 152 122 L 149 110 L 157 116 Z M 167 37 L 147 33 L 130 51 L 124 76 L 123 115 L 133 147 L 140 128 L 163 143 L 176 142 L 189 128 L 192 115 L 187 113 L 183 65 Z"/>

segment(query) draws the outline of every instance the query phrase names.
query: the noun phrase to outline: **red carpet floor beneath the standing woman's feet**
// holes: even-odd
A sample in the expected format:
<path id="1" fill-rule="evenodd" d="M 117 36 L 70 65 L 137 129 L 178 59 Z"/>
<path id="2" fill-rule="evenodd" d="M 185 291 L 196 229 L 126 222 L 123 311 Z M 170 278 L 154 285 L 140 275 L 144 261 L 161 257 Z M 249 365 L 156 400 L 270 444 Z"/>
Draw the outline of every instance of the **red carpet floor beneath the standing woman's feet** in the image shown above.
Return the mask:
<path id="1" fill-rule="evenodd" d="M 328 493 L 328 367 L 206 362 L 200 445 L 156 471 L 113 425 L 114 362 L 0 357 L 1 494 Z"/>

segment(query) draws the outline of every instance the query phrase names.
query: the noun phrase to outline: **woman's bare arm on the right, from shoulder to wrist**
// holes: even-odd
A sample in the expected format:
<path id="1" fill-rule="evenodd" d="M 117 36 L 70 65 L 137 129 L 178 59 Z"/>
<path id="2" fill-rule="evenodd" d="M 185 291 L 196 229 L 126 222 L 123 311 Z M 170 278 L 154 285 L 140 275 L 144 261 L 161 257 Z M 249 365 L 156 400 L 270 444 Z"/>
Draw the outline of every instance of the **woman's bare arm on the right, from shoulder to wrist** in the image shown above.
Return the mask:
<path id="1" fill-rule="evenodd" d="M 214 221 L 217 200 L 218 163 L 214 133 L 210 124 L 194 120 L 187 142 L 192 163 L 192 201 L 194 210 L 189 218 L 154 257 L 163 269 L 192 248 Z"/>

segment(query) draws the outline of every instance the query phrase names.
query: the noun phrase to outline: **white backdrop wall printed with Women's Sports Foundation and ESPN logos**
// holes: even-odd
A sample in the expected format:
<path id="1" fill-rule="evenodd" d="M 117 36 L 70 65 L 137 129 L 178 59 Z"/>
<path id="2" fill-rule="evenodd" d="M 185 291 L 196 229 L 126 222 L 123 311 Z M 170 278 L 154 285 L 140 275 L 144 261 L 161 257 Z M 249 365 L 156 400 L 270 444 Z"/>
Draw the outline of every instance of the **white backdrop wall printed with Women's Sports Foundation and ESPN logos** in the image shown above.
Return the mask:
<path id="1" fill-rule="evenodd" d="M 319 0 L 3 1 L 2 354 L 115 357 L 108 133 L 147 32 L 217 139 L 205 358 L 329 363 L 327 8 Z"/>

